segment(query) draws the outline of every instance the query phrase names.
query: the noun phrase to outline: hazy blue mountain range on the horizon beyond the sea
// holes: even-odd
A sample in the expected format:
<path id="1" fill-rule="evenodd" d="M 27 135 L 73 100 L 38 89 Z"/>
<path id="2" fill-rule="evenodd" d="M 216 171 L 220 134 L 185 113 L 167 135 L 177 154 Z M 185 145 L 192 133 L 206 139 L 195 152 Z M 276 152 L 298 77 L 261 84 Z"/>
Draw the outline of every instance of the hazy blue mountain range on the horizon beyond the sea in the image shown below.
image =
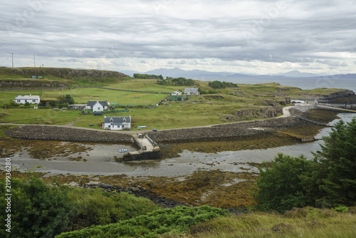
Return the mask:
<path id="1" fill-rule="evenodd" d="M 134 73 L 140 73 L 138 71 L 120 71 L 129 76 L 133 76 Z M 211 81 L 217 78 L 221 80 L 229 81 L 229 78 L 333 78 L 333 79 L 356 79 L 356 73 L 339 74 L 332 76 L 321 76 L 315 73 L 303 73 L 300 71 L 289 71 L 286 73 L 276 73 L 273 75 L 251 75 L 247 73 L 233 73 L 233 72 L 211 72 L 201 71 L 194 69 L 192 71 L 184 71 L 181 68 L 158 68 L 153 71 L 144 72 L 146 74 L 162 75 L 164 78 L 168 77 L 184 77 L 192 78 L 200 81 Z"/>

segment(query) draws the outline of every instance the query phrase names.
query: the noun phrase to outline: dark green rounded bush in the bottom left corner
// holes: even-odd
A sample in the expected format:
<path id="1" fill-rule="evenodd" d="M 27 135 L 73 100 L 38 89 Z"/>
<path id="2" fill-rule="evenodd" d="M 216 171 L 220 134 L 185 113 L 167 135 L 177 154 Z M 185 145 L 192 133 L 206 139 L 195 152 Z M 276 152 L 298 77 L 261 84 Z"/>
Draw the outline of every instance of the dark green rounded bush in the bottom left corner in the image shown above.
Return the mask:
<path id="1" fill-rule="evenodd" d="M 11 211 L 6 212 L 6 180 L 0 180 L 0 219 L 11 214 L 11 233 L 0 229 L 0 237 L 54 237 L 65 231 L 73 212 L 66 190 L 48 187 L 38 178 L 11 179 Z"/>

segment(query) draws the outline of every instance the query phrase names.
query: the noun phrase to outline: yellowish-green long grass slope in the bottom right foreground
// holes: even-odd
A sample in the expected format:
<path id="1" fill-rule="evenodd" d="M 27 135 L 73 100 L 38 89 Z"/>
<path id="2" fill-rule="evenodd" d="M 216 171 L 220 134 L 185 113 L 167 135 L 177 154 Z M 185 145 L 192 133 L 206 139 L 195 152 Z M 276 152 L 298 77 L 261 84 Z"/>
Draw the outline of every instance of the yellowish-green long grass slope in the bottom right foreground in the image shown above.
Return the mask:
<path id="1" fill-rule="evenodd" d="M 191 227 L 193 237 L 355 237 L 355 213 L 305 207 L 286 214 L 251 213 Z"/>

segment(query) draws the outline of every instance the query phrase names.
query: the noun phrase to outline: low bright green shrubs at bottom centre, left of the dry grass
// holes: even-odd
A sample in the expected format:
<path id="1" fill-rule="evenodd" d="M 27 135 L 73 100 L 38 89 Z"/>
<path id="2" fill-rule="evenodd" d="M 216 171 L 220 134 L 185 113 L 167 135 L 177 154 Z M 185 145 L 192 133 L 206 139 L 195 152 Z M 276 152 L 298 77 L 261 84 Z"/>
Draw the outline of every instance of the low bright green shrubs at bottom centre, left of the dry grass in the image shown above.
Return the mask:
<path id="1" fill-rule="evenodd" d="M 209 206 L 159 209 L 132 219 L 106 226 L 93 226 L 80 231 L 59 234 L 57 238 L 73 237 L 157 237 L 165 233 L 187 232 L 189 227 L 229 212 Z"/>

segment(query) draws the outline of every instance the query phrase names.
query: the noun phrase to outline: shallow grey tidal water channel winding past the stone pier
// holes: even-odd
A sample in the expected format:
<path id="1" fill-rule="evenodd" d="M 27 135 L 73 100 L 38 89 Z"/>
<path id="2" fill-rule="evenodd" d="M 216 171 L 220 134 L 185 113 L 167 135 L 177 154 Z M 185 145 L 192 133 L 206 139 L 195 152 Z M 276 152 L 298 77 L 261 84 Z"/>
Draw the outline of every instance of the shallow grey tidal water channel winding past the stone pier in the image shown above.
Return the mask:
<path id="1" fill-rule="evenodd" d="M 348 122 L 356 113 L 338 114 L 342 120 Z M 337 120 L 330 123 L 332 125 Z M 321 139 L 323 135 L 328 135 L 331 128 L 323 128 L 315 137 Z M 312 158 L 310 151 L 315 152 L 320 149 L 322 140 L 311 143 L 299 143 L 297 145 L 285 146 L 280 148 L 270 148 L 267 150 L 239 150 L 224 151 L 217 153 L 190 152 L 183 150 L 179 157 L 165 160 L 147 160 L 137 162 L 115 162 L 115 157 L 122 157 L 124 153 L 136 150 L 130 145 L 103 145 L 85 144 L 91 150 L 71 154 L 68 157 L 54 156 L 46 160 L 32 158 L 26 150 L 16 153 L 11 157 L 13 169 L 26 171 L 35 170 L 38 172 L 49 172 L 54 174 L 73 174 L 73 175 L 117 175 L 124 174 L 129 176 L 164 176 L 164 177 L 184 177 L 192 174 L 195 170 L 222 170 L 231 172 L 258 172 L 256 167 L 249 165 L 248 162 L 261 163 L 271 161 L 278 154 L 283 152 L 286 155 L 297 157 L 305 155 Z M 67 143 L 67 142 L 63 142 Z M 80 158 L 72 161 L 70 158 Z M 1 158 L 1 164 L 4 164 Z"/>

